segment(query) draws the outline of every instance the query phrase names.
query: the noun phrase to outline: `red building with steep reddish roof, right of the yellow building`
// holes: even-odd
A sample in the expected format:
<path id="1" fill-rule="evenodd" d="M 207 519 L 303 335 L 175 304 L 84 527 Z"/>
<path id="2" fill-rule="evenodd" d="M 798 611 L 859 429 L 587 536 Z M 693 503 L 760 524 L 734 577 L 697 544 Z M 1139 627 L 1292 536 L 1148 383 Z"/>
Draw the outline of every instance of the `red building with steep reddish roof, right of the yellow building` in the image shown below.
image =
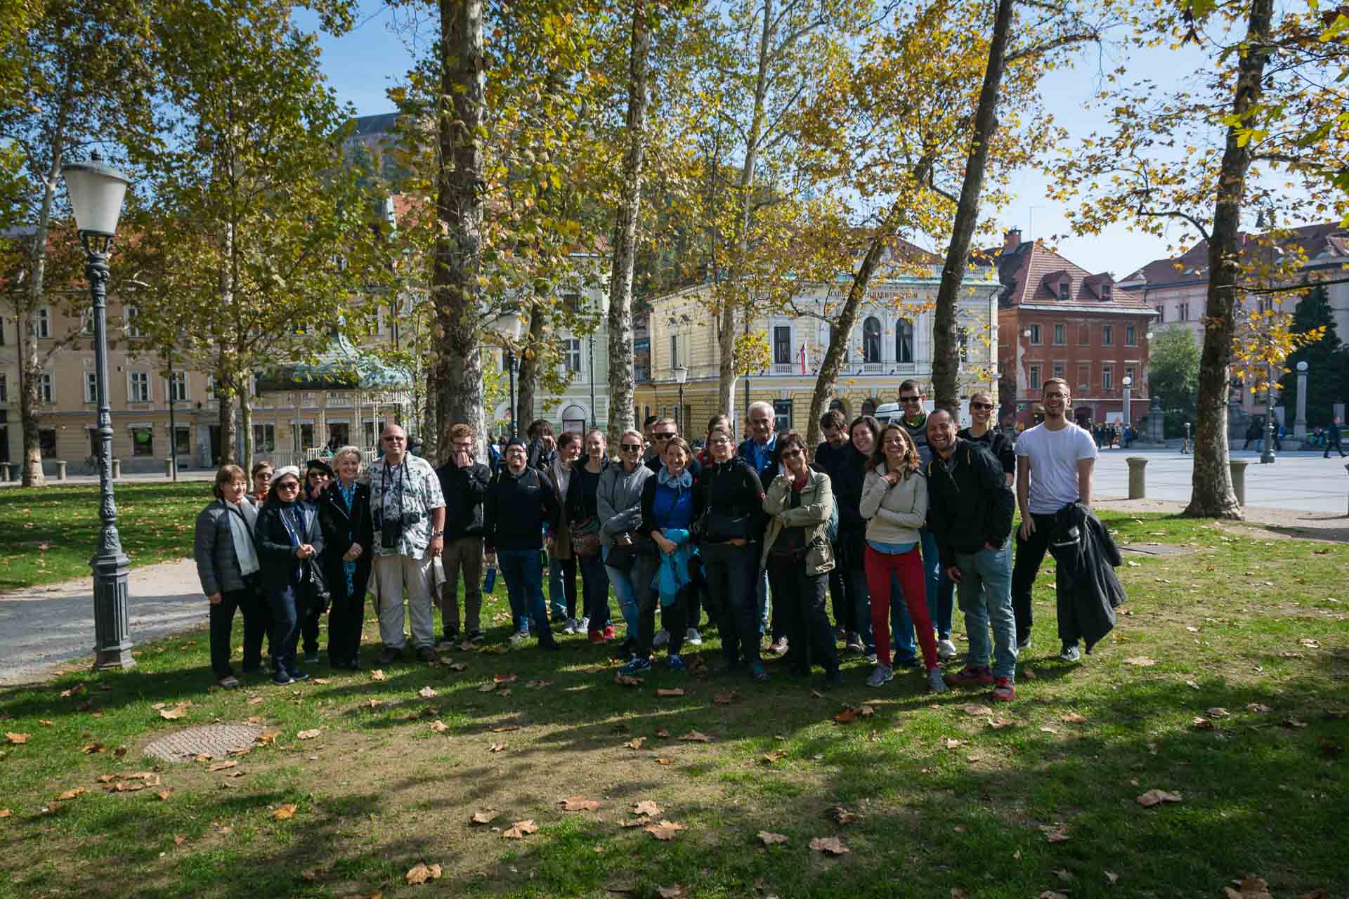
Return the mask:
<path id="1" fill-rule="evenodd" d="M 1148 334 L 1156 313 L 1040 241 L 1010 230 L 993 257 L 998 295 L 1000 421 L 1043 418 L 1044 381 L 1062 377 L 1078 423 L 1137 422 L 1148 410 Z M 1125 408 L 1128 394 L 1128 408 Z"/>

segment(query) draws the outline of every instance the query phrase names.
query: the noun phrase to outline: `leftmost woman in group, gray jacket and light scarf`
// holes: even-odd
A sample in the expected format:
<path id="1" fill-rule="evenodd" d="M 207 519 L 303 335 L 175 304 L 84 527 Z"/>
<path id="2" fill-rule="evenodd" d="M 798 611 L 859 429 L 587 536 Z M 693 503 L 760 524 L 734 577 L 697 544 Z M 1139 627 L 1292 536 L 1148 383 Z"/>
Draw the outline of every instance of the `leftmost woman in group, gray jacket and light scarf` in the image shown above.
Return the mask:
<path id="1" fill-rule="evenodd" d="M 237 465 L 216 472 L 216 501 L 197 515 L 193 554 L 201 592 L 210 602 L 210 669 L 227 690 L 239 686 L 229 667 L 229 638 L 235 609 L 244 616 L 244 674 L 262 671 L 266 605 L 258 592 L 258 551 L 254 528 L 258 509 L 248 501 L 248 483 Z"/>

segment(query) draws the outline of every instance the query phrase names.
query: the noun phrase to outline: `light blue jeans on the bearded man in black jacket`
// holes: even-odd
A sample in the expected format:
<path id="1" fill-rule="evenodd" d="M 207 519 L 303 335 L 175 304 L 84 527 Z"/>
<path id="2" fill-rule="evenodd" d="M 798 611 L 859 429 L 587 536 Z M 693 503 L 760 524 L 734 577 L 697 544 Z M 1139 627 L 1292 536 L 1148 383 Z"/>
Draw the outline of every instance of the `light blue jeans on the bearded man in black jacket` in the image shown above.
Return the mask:
<path id="1" fill-rule="evenodd" d="M 960 569 L 960 611 L 970 638 L 966 664 L 985 667 L 993 655 L 993 677 L 1016 678 L 1016 616 L 1012 615 L 1012 540 L 1001 550 L 956 553 Z M 989 624 L 993 646 L 989 647 Z"/>

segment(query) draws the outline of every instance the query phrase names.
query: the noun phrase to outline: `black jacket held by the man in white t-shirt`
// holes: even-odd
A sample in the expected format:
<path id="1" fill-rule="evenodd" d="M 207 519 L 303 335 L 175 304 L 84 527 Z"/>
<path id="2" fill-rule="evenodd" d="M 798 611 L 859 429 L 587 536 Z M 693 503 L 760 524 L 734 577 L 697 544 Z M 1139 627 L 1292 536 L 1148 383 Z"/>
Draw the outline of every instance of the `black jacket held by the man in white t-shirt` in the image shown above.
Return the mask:
<path id="1" fill-rule="evenodd" d="M 1126 598 L 1114 576 L 1120 550 L 1087 507 L 1068 503 L 1054 515 L 1050 554 L 1058 562 L 1059 638 L 1082 639 L 1090 652 L 1114 629 L 1114 607 Z"/>

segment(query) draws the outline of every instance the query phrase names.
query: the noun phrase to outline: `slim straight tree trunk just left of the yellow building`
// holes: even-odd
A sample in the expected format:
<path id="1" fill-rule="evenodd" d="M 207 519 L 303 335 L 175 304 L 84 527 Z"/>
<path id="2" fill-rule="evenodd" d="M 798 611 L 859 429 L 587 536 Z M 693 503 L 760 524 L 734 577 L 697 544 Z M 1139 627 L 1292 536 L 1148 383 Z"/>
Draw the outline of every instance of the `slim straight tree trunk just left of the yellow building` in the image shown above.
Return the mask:
<path id="1" fill-rule="evenodd" d="M 633 416 L 633 266 L 637 218 L 642 206 L 642 158 L 646 152 L 646 105 L 650 100 L 648 57 L 652 23 L 648 0 L 633 0 L 633 38 L 627 63 L 627 148 L 623 195 L 614 222 L 614 266 L 608 278 L 608 442 L 635 427 Z"/>

